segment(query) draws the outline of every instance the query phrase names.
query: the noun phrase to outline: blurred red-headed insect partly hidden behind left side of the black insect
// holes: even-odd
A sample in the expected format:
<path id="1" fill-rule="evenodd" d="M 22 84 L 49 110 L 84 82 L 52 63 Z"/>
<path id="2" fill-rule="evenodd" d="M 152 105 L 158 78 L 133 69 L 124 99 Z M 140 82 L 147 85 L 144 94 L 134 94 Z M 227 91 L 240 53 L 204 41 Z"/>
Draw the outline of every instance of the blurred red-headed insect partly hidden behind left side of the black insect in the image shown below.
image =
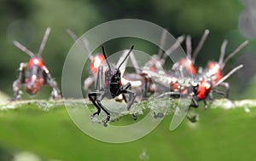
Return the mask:
<path id="1" fill-rule="evenodd" d="M 102 54 L 91 55 L 92 52 L 90 51 L 89 42 L 87 39 L 85 39 L 84 37 L 83 39 L 79 39 L 79 37 L 70 29 L 67 29 L 67 33 L 73 38 L 75 42 L 76 41 L 79 42 L 80 46 L 85 50 L 85 53 L 87 53 L 87 55 L 89 56 L 90 76 L 84 80 L 84 90 L 89 91 L 90 86 L 96 80 L 98 69 L 102 65 L 103 61 L 105 60 L 105 57 Z"/>

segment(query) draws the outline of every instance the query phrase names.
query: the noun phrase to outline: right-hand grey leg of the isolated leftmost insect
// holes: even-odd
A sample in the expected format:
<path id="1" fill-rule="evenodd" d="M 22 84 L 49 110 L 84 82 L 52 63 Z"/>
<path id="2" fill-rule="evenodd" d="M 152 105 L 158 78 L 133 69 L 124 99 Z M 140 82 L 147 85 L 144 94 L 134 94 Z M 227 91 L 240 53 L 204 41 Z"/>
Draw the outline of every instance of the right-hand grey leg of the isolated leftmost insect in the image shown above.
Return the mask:
<path id="1" fill-rule="evenodd" d="M 49 86 L 52 88 L 50 97 L 54 100 L 61 99 L 61 90 L 58 88 L 55 80 L 51 77 L 49 70 L 46 68 L 46 66 L 43 67 L 43 70 L 44 70 L 43 71 L 44 81 L 45 81 L 45 83 L 48 83 Z"/>

